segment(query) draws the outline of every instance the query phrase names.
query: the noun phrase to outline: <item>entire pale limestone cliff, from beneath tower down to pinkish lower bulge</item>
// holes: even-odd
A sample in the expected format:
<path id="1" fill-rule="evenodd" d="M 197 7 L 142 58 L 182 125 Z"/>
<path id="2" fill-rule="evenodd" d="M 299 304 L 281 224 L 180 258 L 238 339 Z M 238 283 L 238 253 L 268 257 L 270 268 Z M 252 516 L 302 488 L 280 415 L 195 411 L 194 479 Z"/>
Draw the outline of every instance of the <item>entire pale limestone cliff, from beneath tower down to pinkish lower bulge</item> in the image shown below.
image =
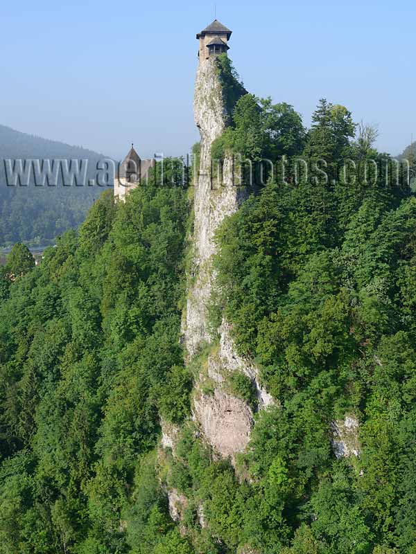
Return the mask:
<path id="1" fill-rule="evenodd" d="M 225 157 L 220 175 L 218 168 L 212 167 L 211 145 L 230 120 L 226 94 L 216 59 L 210 58 L 200 64 L 194 96 L 195 121 L 201 139 L 200 168 L 194 197 L 193 280 L 188 289 L 184 323 L 184 343 L 190 359 L 202 346 L 211 342 L 207 305 L 215 282 L 212 267 L 212 256 L 216 252 L 214 234 L 224 218 L 234 213 L 247 195 L 234 175 L 231 157 Z M 237 355 L 225 320 L 218 334 L 219 348 L 209 354 L 207 361 L 208 376 L 214 382 L 214 394 L 206 395 L 199 391 L 197 382 L 193 416 L 214 451 L 233 459 L 248 444 L 253 414 L 242 400 L 223 390 L 225 375 L 235 370 L 245 373 L 252 380 L 261 407 L 270 404 L 272 398 L 259 385 L 254 365 Z"/>

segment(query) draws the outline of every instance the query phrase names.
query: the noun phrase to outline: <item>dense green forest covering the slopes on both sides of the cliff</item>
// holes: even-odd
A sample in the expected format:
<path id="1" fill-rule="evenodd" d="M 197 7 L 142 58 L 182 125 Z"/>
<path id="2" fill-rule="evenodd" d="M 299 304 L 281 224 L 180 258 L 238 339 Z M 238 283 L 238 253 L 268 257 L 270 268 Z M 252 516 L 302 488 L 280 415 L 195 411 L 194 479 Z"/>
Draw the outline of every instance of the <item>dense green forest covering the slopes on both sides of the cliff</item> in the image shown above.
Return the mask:
<path id="1" fill-rule="evenodd" d="M 291 105 L 236 89 L 224 58 L 218 71 L 234 108 L 216 157 L 324 158 L 331 179 L 273 175 L 225 219 L 212 343 L 189 364 L 180 159 L 166 186 L 125 204 L 103 193 L 40 266 L 13 247 L 0 274 L 1 554 L 416 553 L 416 198 L 383 175 L 340 178 L 345 158 L 390 159 L 346 107 L 320 100 L 306 129 Z M 235 467 L 191 418 L 222 316 L 277 400 L 258 410 L 234 377 L 255 412 Z M 345 414 L 360 454 L 337 458 L 331 422 Z M 174 453 L 159 447 L 161 418 L 180 427 Z M 187 498 L 179 524 L 168 489 Z"/>

